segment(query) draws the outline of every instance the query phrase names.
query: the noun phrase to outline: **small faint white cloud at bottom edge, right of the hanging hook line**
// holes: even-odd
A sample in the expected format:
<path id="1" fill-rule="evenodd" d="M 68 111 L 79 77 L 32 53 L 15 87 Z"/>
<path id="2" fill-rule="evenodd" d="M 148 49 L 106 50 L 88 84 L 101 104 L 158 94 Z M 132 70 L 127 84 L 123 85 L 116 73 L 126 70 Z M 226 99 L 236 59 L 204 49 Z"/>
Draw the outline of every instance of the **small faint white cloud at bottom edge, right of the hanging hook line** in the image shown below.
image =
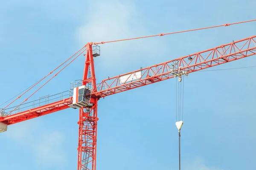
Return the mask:
<path id="1" fill-rule="evenodd" d="M 182 169 L 184 170 L 222 170 L 218 167 L 205 165 L 203 159 L 199 159 L 199 158 L 195 159 L 192 162 L 184 164 L 184 168 Z"/>

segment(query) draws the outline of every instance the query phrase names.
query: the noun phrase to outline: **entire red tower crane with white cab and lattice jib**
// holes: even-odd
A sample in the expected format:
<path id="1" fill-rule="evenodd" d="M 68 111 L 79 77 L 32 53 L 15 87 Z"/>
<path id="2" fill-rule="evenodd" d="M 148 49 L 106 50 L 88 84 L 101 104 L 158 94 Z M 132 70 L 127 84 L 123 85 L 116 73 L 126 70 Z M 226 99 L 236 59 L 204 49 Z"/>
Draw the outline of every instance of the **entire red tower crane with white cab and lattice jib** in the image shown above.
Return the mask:
<path id="1" fill-rule="evenodd" d="M 228 25 L 225 24 L 223 26 Z M 164 34 L 158 34 L 155 36 L 163 35 Z M 105 42 L 100 43 L 103 44 Z M 72 94 L 69 94 L 67 98 L 61 96 L 59 101 L 47 103 L 39 107 L 37 107 L 34 102 L 30 103 L 30 108 L 25 111 L 20 111 L 20 106 L 25 105 L 23 103 L 14 108 L 1 109 L 0 132 L 6 131 L 8 125 L 70 107 L 75 109 L 79 108 L 78 170 L 96 170 L 97 107 L 100 98 L 174 77 L 178 77 L 179 81 L 181 81 L 183 75 L 188 75 L 195 71 L 256 54 L 256 36 L 252 36 L 195 54 L 152 65 L 147 68 L 141 68 L 116 77 L 104 79 L 99 82 L 99 84 L 96 84 L 93 57 L 100 55 L 100 49 L 97 44 L 99 43 L 87 43 L 76 53 L 78 57 L 83 51 L 86 51 L 86 54 L 84 54 L 86 60 L 83 79 L 81 82 L 77 81 L 73 84 Z M 18 98 L 20 98 L 20 96 Z M 49 102 L 49 100 L 47 101 Z"/>

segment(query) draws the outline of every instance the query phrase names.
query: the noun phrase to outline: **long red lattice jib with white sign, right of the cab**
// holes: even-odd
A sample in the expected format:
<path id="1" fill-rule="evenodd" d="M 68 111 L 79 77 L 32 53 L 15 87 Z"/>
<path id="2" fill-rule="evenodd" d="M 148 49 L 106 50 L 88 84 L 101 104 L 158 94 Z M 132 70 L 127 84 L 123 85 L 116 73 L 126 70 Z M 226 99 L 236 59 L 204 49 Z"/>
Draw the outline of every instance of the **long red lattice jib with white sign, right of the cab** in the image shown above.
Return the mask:
<path id="1" fill-rule="evenodd" d="M 180 71 L 192 73 L 215 65 L 249 57 L 254 54 L 256 54 L 256 36 L 220 45 L 215 48 L 173 59 L 147 68 L 142 68 L 116 77 L 111 77 L 109 79 L 104 79 L 97 85 L 97 89 L 93 91 L 92 95 L 101 98 L 170 79 L 174 77 L 172 72 L 177 72 L 180 66 Z M 135 76 L 134 74 L 139 71 L 141 71 L 141 77 L 137 77 L 138 75 Z M 120 77 L 125 75 L 128 75 L 129 77 L 120 82 Z M 131 77 L 134 79 L 132 81 L 128 81 Z"/>

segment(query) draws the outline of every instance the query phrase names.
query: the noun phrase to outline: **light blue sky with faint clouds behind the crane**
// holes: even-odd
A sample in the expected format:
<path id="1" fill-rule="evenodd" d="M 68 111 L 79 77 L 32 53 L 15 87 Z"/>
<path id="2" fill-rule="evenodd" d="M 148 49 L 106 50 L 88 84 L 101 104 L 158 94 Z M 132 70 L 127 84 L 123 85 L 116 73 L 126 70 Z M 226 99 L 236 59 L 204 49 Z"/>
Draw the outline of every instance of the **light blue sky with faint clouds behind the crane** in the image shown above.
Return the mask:
<path id="1" fill-rule="evenodd" d="M 221 25 L 256 16 L 254 1 L 9 0 L 0 5 L 0 104 L 44 77 L 86 42 Z M 101 45 L 96 79 L 255 35 L 256 23 Z M 254 66 L 255 56 L 212 69 Z M 81 79 L 76 59 L 32 99 Z M 195 72 L 185 79 L 183 170 L 254 170 L 255 68 Z M 97 169 L 178 168 L 176 79 L 100 99 Z M 157 92 L 157 93 L 156 93 Z M 25 98 L 23 98 L 25 99 Z M 21 100 L 19 102 L 22 102 Z M 3 170 L 77 167 L 78 111 L 67 109 L 0 133 Z"/>

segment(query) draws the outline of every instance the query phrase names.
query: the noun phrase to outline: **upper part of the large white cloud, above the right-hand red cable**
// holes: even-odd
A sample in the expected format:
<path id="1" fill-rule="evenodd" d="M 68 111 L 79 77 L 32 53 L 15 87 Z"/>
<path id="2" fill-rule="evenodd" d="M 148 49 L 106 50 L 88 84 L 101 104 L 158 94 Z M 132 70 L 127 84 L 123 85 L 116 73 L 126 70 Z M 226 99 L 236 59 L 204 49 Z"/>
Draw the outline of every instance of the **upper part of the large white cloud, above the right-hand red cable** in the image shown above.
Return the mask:
<path id="1" fill-rule="evenodd" d="M 94 9 L 89 20 L 78 28 L 81 43 L 131 37 L 138 32 L 140 25 L 131 25 L 132 20 L 136 20 L 134 5 L 101 2 Z"/>

